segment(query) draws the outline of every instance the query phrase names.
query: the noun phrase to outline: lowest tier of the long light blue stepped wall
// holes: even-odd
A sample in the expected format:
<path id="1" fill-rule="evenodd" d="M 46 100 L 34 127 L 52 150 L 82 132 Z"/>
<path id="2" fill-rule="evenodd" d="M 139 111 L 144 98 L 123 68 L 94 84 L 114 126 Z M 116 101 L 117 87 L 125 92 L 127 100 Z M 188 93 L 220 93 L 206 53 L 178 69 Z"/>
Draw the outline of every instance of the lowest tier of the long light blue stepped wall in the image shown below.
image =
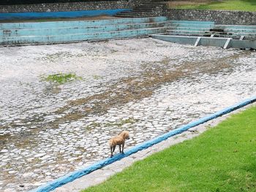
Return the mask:
<path id="1" fill-rule="evenodd" d="M 10 37 L 0 39 L 0 45 L 26 45 L 26 44 L 53 44 L 61 42 L 79 42 L 86 40 L 104 40 L 104 39 L 121 39 L 131 37 L 146 37 L 148 34 L 159 34 L 165 31 L 165 27 L 161 28 L 140 28 L 123 31 L 108 31 L 93 34 L 65 34 L 53 36 L 26 36 L 26 37 Z"/>

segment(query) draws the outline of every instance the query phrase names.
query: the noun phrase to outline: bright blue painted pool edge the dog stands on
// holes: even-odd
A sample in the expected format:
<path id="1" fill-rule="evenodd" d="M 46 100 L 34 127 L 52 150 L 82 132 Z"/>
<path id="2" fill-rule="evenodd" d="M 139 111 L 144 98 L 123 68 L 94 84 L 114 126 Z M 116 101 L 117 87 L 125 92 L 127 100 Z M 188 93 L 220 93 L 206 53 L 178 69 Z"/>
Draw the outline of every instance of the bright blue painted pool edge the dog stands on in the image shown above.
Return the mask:
<path id="1" fill-rule="evenodd" d="M 246 106 L 247 104 L 252 104 L 253 102 L 256 101 L 256 96 L 252 96 L 249 99 L 246 99 L 244 101 L 239 102 L 238 104 L 234 104 L 230 107 L 225 108 L 224 110 L 220 110 L 219 112 L 215 112 L 214 114 L 208 115 L 204 118 L 200 118 L 199 120 L 192 121 L 191 123 L 188 123 L 185 126 L 181 126 L 180 128 L 176 128 L 173 131 L 167 132 L 166 134 L 162 134 L 159 137 L 156 137 L 154 139 L 151 139 L 147 142 L 143 142 L 140 145 L 136 145 L 135 147 L 132 147 L 132 149 L 129 149 L 126 151 L 124 154 L 118 154 L 113 156 L 113 158 L 106 158 L 105 160 L 99 161 L 95 164 L 92 164 L 91 166 L 88 166 L 84 169 L 71 172 L 67 175 L 64 175 L 63 177 L 60 177 L 57 180 L 53 180 L 49 183 L 46 183 L 45 185 L 39 186 L 38 188 L 32 190 L 31 192 L 48 192 L 52 191 L 55 188 L 60 187 L 61 185 L 64 185 L 66 183 L 69 183 L 79 177 L 82 177 L 83 175 L 89 174 L 97 169 L 102 168 L 103 166 L 107 166 L 108 164 L 112 164 L 115 161 L 120 160 L 121 158 L 125 158 L 129 155 L 132 155 L 133 153 L 137 153 L 139 150 L 144 150 L 148 147 L 151 147 L 152 145 L 155 145 L 159 142 L 162 142 L 166 140 L 169 137 L 172 137 L 176 134 L 181 134 L 184 131 L 187 131 L 189 128 L 192 128 L 194 126 L 198 126 L 202 123 L 206 123 L 208 120 L 212 120 L 214 118 L 218 118 L 222 115 L 225 115 L 229 112 L 232 112 L 234 110 L 238 110 L 241 107 Z"/>

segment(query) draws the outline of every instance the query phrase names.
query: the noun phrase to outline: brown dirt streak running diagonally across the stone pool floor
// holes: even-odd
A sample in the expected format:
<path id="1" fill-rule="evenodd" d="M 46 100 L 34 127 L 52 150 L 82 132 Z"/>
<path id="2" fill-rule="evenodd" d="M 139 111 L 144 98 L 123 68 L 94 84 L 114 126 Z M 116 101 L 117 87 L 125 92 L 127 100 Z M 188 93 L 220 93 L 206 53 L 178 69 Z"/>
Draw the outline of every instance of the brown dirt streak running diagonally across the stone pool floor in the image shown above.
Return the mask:
<path id="1" fill-rule="evenodd" d="M 143 64 L 144 71 L 140 76 L 128 77 L 108 85 L 108 89 L 105 92 L 69 101 L 65 107 L 56 110 L 56 115 L 67 112 L 72 107 L 78 107 L 79 110 L 67 113 L 56 122 L 59 124 L 60 122 L 78 120 L 87 115 L 103 115 L 112 107 L 118 107 L 119 105 L 127 104 L 129 101 L 137 101 L 151 96 L 154 90 L 166 82 L 178 81 L 181 78 L 191 78 L 197 74 L 228 72 L 233 69 L 232 61 L 244 54 L 249 54 L 249 52 L 239 53 L 216 61 L 186 62 L 176 66 L 173 70 L 170 69 L 171 58 L 164 58 L 160 62 Z"/>

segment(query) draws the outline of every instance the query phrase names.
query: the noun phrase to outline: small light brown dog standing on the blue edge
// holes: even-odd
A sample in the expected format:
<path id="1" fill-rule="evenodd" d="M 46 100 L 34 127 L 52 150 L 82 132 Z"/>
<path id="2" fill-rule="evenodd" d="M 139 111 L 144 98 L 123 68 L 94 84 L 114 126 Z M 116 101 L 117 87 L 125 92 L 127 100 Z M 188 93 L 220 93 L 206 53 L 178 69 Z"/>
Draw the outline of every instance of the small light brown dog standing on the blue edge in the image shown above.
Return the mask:
<path id="1" fill-rule="evenodd" d="M 116 149 L 116 145 L 119 145 L 120 153 L 124 153 L 125 139 L 129 139 L 129 132 L 128 131 L 122 131 L 121 134 L 118 134 L 118 136 L 113 137 L 109 140 L 110 151 L 111 151 L 110 157 L 113 157 L 113 153 Z M 121 147 L 122 147 L 122 150 L 121 150 Z"/>

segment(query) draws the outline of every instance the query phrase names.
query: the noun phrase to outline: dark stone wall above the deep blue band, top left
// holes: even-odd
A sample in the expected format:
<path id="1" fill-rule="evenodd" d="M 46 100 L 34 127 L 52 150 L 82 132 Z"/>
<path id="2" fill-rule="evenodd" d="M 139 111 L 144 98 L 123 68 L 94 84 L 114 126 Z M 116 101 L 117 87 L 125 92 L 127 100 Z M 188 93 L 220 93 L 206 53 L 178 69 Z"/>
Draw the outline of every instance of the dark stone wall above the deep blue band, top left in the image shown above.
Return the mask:
<path id="1" fill-rule="evenodd" d="M 78 10 L 126 9 L 148 2 L 147 0 L 86 1 L 54 4 L 2 5 L 0 13 L 9 12 L 67 12 Z"/>

